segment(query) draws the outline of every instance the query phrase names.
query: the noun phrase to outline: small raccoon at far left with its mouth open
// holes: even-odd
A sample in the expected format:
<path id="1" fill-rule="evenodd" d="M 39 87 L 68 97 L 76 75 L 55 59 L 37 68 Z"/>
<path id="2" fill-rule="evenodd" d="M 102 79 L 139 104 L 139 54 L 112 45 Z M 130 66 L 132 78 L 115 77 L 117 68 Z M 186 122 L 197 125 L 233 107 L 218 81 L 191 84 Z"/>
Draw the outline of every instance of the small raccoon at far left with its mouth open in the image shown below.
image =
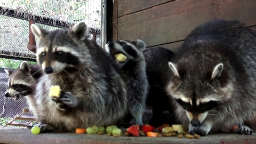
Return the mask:
<path id="1" fill-rule="evenodd" d="M 41 68 L 38 65 L 29 65 L 27 61 L 22 61 L 19 68 L 5 69 L 5 72 L 9 75 L 5 97 L 19 100 L 26 96 L 29 110 L 37 116 L 34 91 L 38 79 L 43 75 Z"/>

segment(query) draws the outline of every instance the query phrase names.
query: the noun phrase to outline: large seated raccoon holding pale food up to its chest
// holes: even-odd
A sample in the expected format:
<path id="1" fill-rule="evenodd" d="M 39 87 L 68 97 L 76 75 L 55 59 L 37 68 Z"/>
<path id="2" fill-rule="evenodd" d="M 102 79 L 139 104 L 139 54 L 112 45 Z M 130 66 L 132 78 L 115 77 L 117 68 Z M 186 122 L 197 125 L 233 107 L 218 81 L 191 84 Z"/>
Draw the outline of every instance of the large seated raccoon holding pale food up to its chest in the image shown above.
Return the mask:
<path id="1" fill-rule="evenodd" d="M 36 87 L 41 132 L 116 124 L 127 112 L 125 82 L 108 53 L 86 38 L 85 22 L 71 29 L 47 31 L 31 25 L 39 39 L 37 63 L 46 73 Z M 59 85 L 60 97 L 49 96 Z"/>

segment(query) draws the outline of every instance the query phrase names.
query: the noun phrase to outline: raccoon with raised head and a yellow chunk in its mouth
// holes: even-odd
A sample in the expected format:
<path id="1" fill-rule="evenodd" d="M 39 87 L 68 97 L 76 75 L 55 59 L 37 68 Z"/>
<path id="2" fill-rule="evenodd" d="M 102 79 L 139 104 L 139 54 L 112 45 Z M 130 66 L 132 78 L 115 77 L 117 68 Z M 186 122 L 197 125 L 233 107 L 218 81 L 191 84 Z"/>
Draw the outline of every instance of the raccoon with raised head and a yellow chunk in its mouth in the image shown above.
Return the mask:
<path id="1" fill-rule="evenodd" d="M 148 80 L 146 75 L 146 61 L 143 55 L 146 44 L 141 41 L 115 41 L 108 42 L 105 49 L 115 59 L 115 55 L 122 53 L 127 59 L 116 61 L 121 68 L 121 76 L 126 82 L 129 94 L 129 111 L 135 118 L 136 125 L 143 125 L 142 116 L 145 111 L 148 92 Z"/>

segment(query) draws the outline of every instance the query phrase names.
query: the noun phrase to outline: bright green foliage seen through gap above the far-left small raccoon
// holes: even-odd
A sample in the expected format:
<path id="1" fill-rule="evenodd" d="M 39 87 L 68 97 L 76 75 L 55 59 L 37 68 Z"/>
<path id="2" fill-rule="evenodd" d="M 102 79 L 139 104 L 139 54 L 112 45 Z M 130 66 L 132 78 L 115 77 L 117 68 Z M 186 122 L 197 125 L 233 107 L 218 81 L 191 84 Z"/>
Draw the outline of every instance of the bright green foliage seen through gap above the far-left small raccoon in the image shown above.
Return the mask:
<path id="1" fill-rule="evenodd" d="M 2 68 L 18 68 L 22 60 L 0 58 L 0 67 Z M 36 64 L 34 61 L 28 61 L 30 64 Z"/>

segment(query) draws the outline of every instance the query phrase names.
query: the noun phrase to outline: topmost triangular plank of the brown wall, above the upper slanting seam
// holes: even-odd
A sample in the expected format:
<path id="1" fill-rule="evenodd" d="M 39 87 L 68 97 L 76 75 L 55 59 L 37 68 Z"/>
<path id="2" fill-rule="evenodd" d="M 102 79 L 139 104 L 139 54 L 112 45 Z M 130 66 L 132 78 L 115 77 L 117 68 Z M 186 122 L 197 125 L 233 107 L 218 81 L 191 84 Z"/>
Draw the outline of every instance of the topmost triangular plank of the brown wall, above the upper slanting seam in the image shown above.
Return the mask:
<path id="1" fill-rule="evenodd" d="M 118 0 L 118 17 L 134 13 L 137 11 L 148 9 L 149 7 L 157 6 L 163 3 L 171 2 L 174 0 Z"/>

